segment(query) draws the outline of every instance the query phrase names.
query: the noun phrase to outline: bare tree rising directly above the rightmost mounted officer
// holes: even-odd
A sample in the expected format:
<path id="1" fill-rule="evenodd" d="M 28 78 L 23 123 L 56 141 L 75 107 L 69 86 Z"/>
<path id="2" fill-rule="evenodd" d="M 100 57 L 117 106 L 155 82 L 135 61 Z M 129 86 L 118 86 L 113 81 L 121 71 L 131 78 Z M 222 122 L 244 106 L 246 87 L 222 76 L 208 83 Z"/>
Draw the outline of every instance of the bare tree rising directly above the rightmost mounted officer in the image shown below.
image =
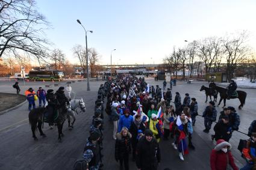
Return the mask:
<path id="1" fill-rule="evenodd" d="M 246 56 L 249 55 L 249 47 L 246 45 L 248 34 L 243 31 L 233 34 L 233 37 L 226 36 L 223 40 L 224 53 L 226 56 L 226 76 L 228 81 L 234 77 L 234 71 Z"/>

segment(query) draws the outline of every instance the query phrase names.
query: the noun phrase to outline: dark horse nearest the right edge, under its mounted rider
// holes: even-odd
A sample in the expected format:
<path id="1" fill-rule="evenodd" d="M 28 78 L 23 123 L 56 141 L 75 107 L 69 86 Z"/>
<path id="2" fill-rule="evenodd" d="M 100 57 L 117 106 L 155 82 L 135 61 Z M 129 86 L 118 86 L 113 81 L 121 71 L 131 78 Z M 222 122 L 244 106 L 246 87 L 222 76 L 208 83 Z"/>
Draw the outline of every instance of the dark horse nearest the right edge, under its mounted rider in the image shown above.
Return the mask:
<path id="1" fill-rule="evenodd" d="M 228 94 L 226 93 L 226 92 L 227 92 L 226 88 L 222 88 L 222 87 L 216 86 L 216 87 L 215 87 L 215 90 L 217 90 L 217 91 L 219 92 L 219 94 L 220 94 L 220 100 L 219 100 L 218 106 L 220 105 L 220 102 L 221 102 L 222 99 L 223 99 L 223 102 L 224 102 L 224 106 L 223 106 L 223 107 L 225 107 L 225 106 L 226 106 L 226 98 L 228 98 Z M 241 103 L 241 104 L 239 105 L 239 109 L 242 109 L 243 105 L 245 105 L 245 99 L 246 99 L 246 95 L 247 95 L 247 94 L 246 94 L 245 91 L 240 91 L 240 90 L 237 90 L 237 94 L 238 94 L 238 97 L 236 97 L 236 96 L 231 96 L 230 99 L 236 99 L 236 98 L 238 98 L 239 101 L 240 101 L 240 103 Z"/>

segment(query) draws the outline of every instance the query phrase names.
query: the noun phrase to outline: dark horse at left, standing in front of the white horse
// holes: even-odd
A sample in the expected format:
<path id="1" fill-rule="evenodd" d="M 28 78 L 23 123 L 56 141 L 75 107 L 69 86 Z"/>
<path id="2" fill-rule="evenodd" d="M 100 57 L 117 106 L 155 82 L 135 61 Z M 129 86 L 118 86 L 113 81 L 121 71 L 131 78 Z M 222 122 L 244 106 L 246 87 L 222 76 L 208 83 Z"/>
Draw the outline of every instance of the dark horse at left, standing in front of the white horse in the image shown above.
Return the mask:
<path id="1" fill-rule="evenodd" d="M 31 130 L 33 133 L 34 140 L 38 140 L 35 135 L 35 130 L 38 128 L 40 135 L 46 137 L 46 135 L 42 131 L 42 123 L 43 123 L 43 113 L 46 111 L 46 108 L 35 108 L 28 114 L 28 120 L 30 121 Z M 63 108 L 58 109 L 58 118 L 56 120 L 58 127 L 58 141 L 61 142 L 61 136 L 64 136 L 62 133 L 62 128 L 64 121 L 67 118 L 67 111 L 64 111 Z"/>

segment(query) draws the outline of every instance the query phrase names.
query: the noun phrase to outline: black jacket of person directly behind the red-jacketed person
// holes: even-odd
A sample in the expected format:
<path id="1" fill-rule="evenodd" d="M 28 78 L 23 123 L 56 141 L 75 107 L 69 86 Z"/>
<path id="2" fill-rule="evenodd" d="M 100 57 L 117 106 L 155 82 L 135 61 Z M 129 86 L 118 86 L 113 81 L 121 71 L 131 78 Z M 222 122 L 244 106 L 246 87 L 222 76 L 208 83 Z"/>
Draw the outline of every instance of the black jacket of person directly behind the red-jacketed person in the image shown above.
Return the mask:
<path id="1" fill-rule="evenodd" d="M 219 139 L 223 139 L 225 141 L 228 141 L 228 139 L 230 138 L 229 134 L 227 132 L 229 132 L 229 126 L 228 124 L 223 123 L 222 120 L 220 120 L 218 123 L 215 124 L 214 128 L 213 128 L 214 132 L 215 132 L 215 140 L 219 140 Z"/>

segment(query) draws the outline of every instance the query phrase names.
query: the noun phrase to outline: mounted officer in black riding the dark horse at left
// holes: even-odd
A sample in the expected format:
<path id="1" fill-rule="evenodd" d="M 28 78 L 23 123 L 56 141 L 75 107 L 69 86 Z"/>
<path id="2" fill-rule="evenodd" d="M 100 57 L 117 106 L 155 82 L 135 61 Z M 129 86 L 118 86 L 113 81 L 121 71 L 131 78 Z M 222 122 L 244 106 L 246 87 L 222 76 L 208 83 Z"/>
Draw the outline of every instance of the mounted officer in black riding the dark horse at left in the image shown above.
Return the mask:
<path id="1" fill-rule="evenodd" d="M 56 111 L 58 101 L 54 94 L 54 90 L 49 89 L 46 94 L 46 101 L 48 102 L 47 111 L 48 111 L 48 120 L 49 126 L 54 124 L 54 112 Z"/>

